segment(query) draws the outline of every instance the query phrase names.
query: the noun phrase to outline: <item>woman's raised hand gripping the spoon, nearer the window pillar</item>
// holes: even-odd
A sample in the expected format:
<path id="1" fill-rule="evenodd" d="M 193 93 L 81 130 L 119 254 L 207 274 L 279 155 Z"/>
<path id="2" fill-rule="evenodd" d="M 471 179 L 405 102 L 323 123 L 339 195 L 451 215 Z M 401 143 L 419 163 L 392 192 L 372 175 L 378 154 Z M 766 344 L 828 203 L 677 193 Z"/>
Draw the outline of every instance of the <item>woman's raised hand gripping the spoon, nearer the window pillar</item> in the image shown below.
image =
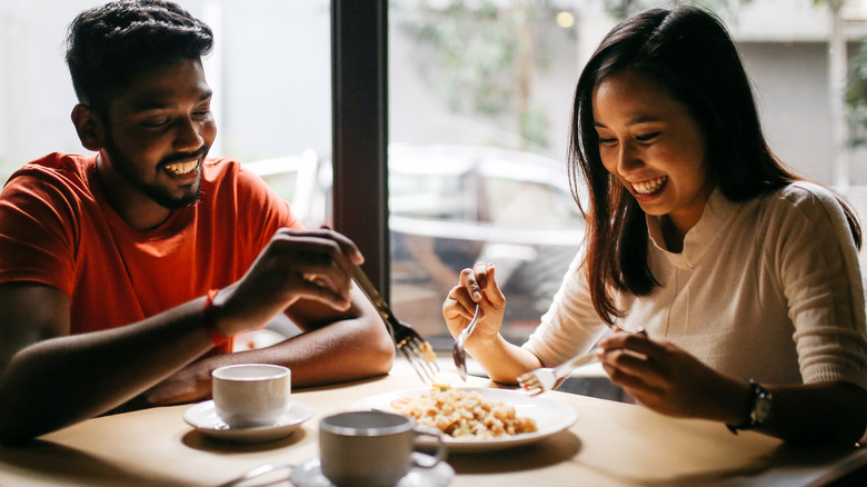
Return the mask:
<path id="1" fill-rule="evenodd" d="M 458 285 L 451 288 L 442 304 L 442 316 L 454 337 L 469 325 L 476 305 L 481 307 L 476 330 L 465 342 L 467 350 L 492 344 L 502 326 L 506 297 L 497 286 L 494 272 L 494 266 L 484 262 L 476 262 L 472 269 L 461 270 Z"/>

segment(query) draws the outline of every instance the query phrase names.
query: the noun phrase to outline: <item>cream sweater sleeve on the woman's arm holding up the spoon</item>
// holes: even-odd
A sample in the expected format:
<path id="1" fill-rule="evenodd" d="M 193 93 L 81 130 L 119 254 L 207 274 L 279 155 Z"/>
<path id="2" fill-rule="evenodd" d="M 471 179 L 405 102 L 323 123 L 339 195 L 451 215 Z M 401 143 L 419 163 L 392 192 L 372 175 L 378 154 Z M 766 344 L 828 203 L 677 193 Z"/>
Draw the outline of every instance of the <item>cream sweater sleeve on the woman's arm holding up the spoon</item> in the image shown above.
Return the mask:
<path id="1" fill-rule="evenodd" d="M 557 366 L 579 352 L 589 351 L 608 329 L 592 306 L 582 260 L 584 254 L 579 252 L 569 266 L 550 308 L 542 315 L 539 327 L 522 346 L 546 367 Z"/>

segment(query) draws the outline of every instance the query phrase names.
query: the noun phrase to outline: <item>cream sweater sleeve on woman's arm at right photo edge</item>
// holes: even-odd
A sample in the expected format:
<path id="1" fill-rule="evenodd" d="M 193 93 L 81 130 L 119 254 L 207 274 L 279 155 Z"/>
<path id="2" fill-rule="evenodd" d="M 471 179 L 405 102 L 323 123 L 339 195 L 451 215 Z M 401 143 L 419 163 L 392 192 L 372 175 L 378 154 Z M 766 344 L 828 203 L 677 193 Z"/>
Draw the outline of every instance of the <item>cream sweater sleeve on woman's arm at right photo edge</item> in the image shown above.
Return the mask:
<path id="1" fill-rule="evenodd" d="M 867 389 L 867 329 L 858 254 L 836 197 L 797 183 L 770 208 L 766 264 L 779 276 L 805 384 Z M 774 228 L 776 227 L 776 228 Z"/>

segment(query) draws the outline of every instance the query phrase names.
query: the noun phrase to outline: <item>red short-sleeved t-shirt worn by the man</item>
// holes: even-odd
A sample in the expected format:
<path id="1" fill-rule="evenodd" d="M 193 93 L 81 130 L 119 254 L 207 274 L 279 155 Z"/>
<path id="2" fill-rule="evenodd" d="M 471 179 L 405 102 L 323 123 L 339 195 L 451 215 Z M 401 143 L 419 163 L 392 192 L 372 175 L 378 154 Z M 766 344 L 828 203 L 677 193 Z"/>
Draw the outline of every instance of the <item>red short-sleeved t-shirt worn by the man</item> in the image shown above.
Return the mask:
<path id="1" fill-rule="evenodd" d="M 139 321 L 238 280 L 289 205 L 231 159 L 203 165 L 201 199 L 158 228 L 130 228 L 96 179 L 96 156 L 51 153 L 0 192 L 0 282 L 36 281 L 69 296 L 71 332 Z"/>

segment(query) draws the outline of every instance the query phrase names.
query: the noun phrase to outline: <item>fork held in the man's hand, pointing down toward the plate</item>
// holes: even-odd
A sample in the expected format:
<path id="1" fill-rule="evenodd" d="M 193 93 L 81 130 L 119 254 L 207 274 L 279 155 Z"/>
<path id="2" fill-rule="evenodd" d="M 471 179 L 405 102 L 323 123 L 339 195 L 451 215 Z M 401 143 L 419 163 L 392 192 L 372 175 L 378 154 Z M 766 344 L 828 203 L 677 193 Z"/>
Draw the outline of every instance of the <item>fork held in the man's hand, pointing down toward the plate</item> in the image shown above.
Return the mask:
<path id="1" fill-rule="evenodd" d="M 379 296 L 377 288 L 370 282 L 370 279 L 368 279 L 360 266 L 352 268 L 352 278 L 370 302 L 373 304 L 391 338 L 395 340 L 397 349 L 409 360 L 421 381 L 434 384 L 434 376 L 439 372 L 439 366 L 437 366 L 437 354 L 434 352 L 434 347 L 430 346 L 430 342 L 422 338 L 411 325 L 395 318 L 391 308 Z"/>

